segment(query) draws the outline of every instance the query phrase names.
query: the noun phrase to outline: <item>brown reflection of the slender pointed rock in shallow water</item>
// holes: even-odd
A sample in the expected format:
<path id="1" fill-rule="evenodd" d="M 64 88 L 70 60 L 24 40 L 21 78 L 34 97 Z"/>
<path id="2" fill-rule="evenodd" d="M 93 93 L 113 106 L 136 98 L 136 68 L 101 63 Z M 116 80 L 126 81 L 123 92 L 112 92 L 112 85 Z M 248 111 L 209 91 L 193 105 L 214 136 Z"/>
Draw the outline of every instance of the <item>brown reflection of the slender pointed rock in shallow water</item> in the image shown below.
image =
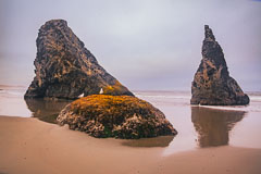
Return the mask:
<path id="1" fill-rule="evenodd" d="M 198 133 L 198 146 L 228 145 L 229 130 L 246 112 L 191 107 L 191 121 Z"/>

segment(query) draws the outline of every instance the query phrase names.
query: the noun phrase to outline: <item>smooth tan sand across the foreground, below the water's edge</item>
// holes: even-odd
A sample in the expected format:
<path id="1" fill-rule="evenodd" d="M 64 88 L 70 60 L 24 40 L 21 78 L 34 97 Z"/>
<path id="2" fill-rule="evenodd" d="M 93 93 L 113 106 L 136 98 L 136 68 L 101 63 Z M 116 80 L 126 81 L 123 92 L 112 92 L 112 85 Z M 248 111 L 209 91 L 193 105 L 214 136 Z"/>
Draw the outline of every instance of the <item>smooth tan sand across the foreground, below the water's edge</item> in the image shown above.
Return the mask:
<path id="1" fill-rule="evenodd" d="M 175 140 L 175 139 L 174 139 Z M 162 156 L 37 119 L 0 116 L 0 174 L 260 174 L 261 149 L 219 147 Z"/>

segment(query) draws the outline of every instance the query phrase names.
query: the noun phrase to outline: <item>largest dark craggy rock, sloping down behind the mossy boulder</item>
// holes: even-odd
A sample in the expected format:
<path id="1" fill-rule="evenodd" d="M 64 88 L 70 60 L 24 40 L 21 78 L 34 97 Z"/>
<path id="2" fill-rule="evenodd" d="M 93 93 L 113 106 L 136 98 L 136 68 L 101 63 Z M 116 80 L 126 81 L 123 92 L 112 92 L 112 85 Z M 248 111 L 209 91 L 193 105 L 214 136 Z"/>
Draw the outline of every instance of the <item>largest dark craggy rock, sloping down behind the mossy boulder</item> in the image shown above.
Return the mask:
<path id="1" fill-rule="evenodd" d="M 48 21 L 40 27 L 36 44 L 36 76 L 25 98 L 75 99 L 82 94 L 99 94 L 101 88 L 104 95 L 133 96 L 98 64 L 65 21 Z"/>

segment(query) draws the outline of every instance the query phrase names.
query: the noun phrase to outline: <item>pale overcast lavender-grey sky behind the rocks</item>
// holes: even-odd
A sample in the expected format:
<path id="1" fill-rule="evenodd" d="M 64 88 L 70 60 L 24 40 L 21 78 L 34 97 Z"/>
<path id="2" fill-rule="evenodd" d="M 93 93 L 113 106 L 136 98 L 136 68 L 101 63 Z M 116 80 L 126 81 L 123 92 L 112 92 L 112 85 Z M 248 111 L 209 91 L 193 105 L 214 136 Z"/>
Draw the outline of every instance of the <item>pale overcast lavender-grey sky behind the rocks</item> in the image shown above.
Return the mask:
<path id="1" fill-rule="evenodd" d="M 38 29 L 63 18 L 132 90 L 190 90 L 207 24 L 231 76 L 261 91 L 260 17 L 259 0 L 0 0 L 0 85 L 30 84 Z"/>

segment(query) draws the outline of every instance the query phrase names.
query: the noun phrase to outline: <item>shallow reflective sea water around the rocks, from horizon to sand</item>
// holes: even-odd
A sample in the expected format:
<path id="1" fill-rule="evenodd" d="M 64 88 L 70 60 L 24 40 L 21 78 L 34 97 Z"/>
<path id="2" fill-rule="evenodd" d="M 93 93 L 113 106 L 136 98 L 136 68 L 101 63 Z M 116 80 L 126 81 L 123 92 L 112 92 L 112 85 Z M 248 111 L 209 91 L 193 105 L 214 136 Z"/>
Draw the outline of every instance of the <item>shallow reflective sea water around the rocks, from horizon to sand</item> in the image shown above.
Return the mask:
<path id="1" fill-rule="evenodd" d="M 71 101 L 24 100 L 26 87 L 0 86 L 0 115 L 38 117 L 55 123 L 58 113 Z M 134 91 L 160 109 L 177 129 L 178 134 L 139 140 L 126 140 L 124 146 L 162 147 L 164 154 L 235 146 L 261 148 L 261 92 L 247 92 L 250 104 L 246 107 L 190 105 L 189 91 Z"/>

